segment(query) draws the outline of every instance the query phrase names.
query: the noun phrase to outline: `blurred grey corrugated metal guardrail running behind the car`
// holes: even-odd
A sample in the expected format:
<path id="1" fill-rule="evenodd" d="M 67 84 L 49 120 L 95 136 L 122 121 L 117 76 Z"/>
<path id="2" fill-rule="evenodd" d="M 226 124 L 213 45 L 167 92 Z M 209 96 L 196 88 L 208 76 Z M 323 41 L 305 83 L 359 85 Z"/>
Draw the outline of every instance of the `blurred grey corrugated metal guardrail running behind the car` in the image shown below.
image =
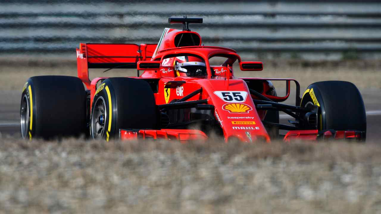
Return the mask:
<path id="1" fill-rule="evenodd" d="M 72 54 L 79 42 L 156 43 L 164 27 L 181 27 L 167 24 L 168 17 L 188 14 L 204 18 L 191 29 L 205 45 L 227 46 L 243 55 L 381 56 L 378 1 L 194 0 L 178 6 L 119 0 L 0 2 L 0 54 Z"/>

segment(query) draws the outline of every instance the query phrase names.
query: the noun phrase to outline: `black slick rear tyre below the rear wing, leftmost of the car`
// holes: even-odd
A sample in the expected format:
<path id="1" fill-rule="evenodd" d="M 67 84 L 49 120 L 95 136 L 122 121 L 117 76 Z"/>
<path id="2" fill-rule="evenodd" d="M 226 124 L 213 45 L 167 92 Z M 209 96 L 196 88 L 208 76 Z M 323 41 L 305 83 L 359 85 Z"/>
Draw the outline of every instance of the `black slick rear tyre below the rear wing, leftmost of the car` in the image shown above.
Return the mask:
<path id="1" fill-rule="evenodd" d="M 30 77 L 21 95 L 21 137 L 80 136 L 86 130 L 86 92 L 77 77 Z"/>

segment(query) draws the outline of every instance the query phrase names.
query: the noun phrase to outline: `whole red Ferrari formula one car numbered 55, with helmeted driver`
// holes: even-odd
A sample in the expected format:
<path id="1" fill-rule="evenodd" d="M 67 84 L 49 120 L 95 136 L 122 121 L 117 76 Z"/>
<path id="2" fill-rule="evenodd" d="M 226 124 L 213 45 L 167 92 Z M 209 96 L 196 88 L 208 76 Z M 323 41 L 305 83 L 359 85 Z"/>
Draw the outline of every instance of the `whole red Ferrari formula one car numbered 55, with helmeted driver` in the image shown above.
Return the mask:
<path id="1" fill-rule="evenodd" d="M 234 77 L 263 69 L 262 62 L 242 61 L 235 50 L 203 46 L 189 23 L 201 18 L 169 18 L 182 30 L 166 28 L 158 44 L 84 44 L 77 49 L 78 78 L 31 77 L 21 97 L 23 138 L 365 140 L 366 115 L 361 94 L 345 81 L 311 84 L 300 97 L 294 79 Z M 237 66 L 233 66 L 237 64 Z M 89 80 L 91 68 L 137 68 L 136 77 Z M 139 71 L 144 71 L 139 73 Z M 277 96 L 272 81 L 285 81 Z M 294 105 L 285 105 L 291 82 Z M 86 86 L 86 90 L 83 87 Z M 279 111 L 295 120 L 279 123 Z M 279 129 L 288 130 L 285 136 Z"/>

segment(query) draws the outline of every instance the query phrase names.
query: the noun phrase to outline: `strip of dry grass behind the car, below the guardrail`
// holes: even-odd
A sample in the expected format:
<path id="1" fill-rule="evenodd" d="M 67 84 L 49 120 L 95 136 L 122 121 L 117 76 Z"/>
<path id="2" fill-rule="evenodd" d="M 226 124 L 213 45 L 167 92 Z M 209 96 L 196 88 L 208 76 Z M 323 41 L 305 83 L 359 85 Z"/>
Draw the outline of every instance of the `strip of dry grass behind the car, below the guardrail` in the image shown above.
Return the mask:
<path id="1" fill-rule="evenodd" d="M 0 58 L 0 90 L 19 90 L 25 81 L 36 75 L 77 75 L 75 60 L 67 59 L 7 59 Z M 323 80 L 344 80 L 353 82 L 358 88 L 381 88 L 381 62 L 344 61 L 344 62 L 301 62 L 269 61 L 264 62 L 262 72 L 236 72 L 237 77 L 295 78 L 303 90 L 309 84 Z M 93 69 L 90 77 L 135 76 L 133 69 Z M 239 70 L 238 68 L 235 70 Z"/>

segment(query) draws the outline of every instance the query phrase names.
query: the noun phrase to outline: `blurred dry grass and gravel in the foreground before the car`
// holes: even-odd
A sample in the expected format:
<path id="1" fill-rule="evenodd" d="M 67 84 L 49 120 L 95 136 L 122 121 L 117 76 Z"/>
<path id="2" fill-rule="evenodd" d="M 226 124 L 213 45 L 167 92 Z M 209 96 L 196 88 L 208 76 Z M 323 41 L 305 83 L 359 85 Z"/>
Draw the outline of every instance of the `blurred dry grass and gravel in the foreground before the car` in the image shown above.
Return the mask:
<path id="1" fill-rule="evenodd" d="M 377 144 L 0 142 L 7 213 L 381 212 Z"/>

